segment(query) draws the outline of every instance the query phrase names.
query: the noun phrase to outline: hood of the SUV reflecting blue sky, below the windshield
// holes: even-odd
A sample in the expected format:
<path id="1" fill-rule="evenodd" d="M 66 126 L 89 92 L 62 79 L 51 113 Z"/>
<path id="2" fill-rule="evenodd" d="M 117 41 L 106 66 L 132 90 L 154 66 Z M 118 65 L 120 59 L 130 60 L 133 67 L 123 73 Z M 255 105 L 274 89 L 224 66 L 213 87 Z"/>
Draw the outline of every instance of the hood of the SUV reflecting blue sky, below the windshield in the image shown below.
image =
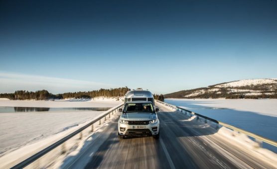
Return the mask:
<path id="1" fill-rule="evenodd" d="M 122 114 L 120 119 L 131 121 L 146 121 L 157 119 L 157 115 L 154 113 L 126 113 Z"/>

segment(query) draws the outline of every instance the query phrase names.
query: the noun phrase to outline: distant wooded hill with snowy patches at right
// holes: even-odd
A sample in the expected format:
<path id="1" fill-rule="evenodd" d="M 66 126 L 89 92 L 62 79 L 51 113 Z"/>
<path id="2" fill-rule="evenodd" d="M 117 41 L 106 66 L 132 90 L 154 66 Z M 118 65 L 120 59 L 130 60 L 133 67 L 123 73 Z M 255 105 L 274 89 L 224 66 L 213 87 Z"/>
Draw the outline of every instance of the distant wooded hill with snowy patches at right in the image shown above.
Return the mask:
<path id="1" fill-rule="evenodd" d="M 251 79 L 181 90 L 165 98 L 277 98 L 277 79 Z"/>

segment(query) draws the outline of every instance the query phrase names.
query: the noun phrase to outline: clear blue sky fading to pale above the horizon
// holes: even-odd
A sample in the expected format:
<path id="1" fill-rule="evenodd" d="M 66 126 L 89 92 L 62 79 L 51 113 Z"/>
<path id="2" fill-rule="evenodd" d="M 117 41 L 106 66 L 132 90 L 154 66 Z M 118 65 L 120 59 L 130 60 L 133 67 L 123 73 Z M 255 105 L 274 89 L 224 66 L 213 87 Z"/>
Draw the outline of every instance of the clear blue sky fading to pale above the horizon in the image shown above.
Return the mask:
<path id="1" fill-rule="evenodd" d="M 277 1 L 1 1 L 0 61 L 0 92 L 277 78 Z"/>

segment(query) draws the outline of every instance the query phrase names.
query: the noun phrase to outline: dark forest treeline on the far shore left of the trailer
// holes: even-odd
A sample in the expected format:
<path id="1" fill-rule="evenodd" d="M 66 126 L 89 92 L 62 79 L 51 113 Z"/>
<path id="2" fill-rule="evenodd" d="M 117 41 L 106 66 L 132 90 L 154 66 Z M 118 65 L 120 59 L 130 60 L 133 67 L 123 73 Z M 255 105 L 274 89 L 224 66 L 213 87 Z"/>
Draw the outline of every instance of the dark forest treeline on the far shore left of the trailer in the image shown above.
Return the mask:
<path id="1" fill-rule="evenodd" d="M 92 91 L 78 91 L 78 92 L 66 92 L 62 94 L 52 94 L 47 90 L 37 90 L 26 91 L 26 90 L 16 90 L 14 93 L 1 93 L 0 98 L 8 98 L 11 100 L 26 100 L 26 99 L 34 99 L 34 100 L 47 100 L 47 99 L 64 99 L 64 98 L 93 98 L 93 97 L 120 97 L 124 96 L 125 93 L 130 90 L 130 88 L 119 87 L 119 88 L 111 88 L 111 89 L 99 89 Z"/>

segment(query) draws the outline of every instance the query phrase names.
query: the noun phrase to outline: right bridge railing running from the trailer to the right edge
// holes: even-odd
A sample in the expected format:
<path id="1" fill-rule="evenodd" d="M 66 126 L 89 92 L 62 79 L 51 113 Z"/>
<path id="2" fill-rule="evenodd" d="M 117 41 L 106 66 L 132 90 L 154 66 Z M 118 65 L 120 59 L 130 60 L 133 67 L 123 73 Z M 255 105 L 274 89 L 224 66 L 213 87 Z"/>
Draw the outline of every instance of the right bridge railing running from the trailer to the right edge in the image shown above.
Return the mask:
<path id="1" fill-rule="evenodd" d="M 201 117 L 201 118 L 205 119 L 205 122 L 206 122 L 206 120 L 209 120 L 209 121 L 212 121 L 212 122 L 214 122 L 214 123 L 216 123 L 216 124 L 218 124 L 218 125 L 221 125 L 221 126 L 224 126 L 224 127 L 229 128 L 229 129 L 232 129 L 233 131 L 237 131 L 237 132 L 240 132 L 240 133 L 244 133 L 244 134 L 246 134 L 247 136 L 254 138 L 254 139 L 256 140 L 256 142 L 258 142 L 258 143 L 265 142 L 265 143 L 267 143 L 267 144 L 270 144 L 270 145 L 272 145 L 272 146 L 277 147 L 277 142 L 274 141 L 274 140 L 265 138 L 265 137 L 263 137 L 263 136 L 259 136 L 259 135 L 257 135 L 257 134 L 254 134 L 254 133 L 251 133 L 251 132 L 249 132 L 249 131 L 243 130 L 243 129 L 241 129 L 241 128 L 232 126 L 232 125 L 230 125 L 230 124 L 223 123 L 223 122 L 221 122 L 221 121 L 212 119 L 212 118 L 210 118 L 210 117 L 207 117 L 207 116 L 204 116 L 204 115 L 195 113 L 195 112 L 193 112 L 193 111 L 184 109 L 184 108 L 179 107 L 179 106 L 175 106 L 175 105 L 172 105 L 172 104 L 169 104 L 169 103 L 165 103 L 165 102 L 162 102 L 162 101 L 159 101 L 159 100 L 155 100 L 155 101 L 158 102 L 158 103 L 160 103 L 160 104 L 163 104 L 163 105 L 165 105 L 165 106 L 167 106 L 167 107 L 170 107 L 171 109 L 175 109 L 175 110 L 178 111 L 178 112 L 184 112 L 185 114 L 186 114 L 186 113 L 189 113 L 191 116 L 192 116 L 192 115 L 195 115 L 195 116 L 197 116 L 197 119 L 198 119 L 199 117 Z M 260 144 L 260 146 L 262 146 L 262 144 Z"/>

